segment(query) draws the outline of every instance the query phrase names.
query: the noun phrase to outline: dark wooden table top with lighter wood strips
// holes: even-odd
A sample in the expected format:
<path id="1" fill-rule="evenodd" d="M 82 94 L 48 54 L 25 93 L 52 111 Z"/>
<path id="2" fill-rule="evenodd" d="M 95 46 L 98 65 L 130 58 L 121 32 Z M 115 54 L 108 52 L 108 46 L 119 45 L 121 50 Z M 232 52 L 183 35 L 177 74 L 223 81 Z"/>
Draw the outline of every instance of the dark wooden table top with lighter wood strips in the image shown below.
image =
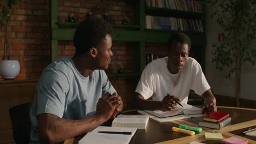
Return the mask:
<path id="1" fill-rule="evenodd" d="M 255 109 L 244 109 L 237 107 L 223 107 L 218 106 L 218 111 L 230 113 L 231 123 L 230 125 L 222 129 L 210 129 L 201 127 L 202 133 L 196 133 L 196 135 L 188 136 L 186 134 L 177 133 L 172 131 L 172 127 L 178 127 L 179 124 L 190 125 L 198 127 L 198 121 L 202 120 L 202 117 L 180 119 L 171 122 L 159 123 L 153 119 L 149 119 L 146 130 L 138 129 L 137 133 L 131 140 L 131 144 L 143 144 L 143 143 L 174 143 L 184 144 L 190 143 L 191 141 L 198 141 L 202 143 L 220 143 L 220 141 L 205 140 L 205 132 L 221 132 L 224 138 L 230 136 L 236 136 L 240 139 L 248 140 L 249 143 L 256 143 L 256 137 L 242 135 L 242 131 L 248 128 L 256 127 L 256 110 Z M 131 113 L 131 112 L 129 112 Z M 66 140 L 66 143 L 78 143 L 82 137 L 76 137 L 75 139 Z"/>

